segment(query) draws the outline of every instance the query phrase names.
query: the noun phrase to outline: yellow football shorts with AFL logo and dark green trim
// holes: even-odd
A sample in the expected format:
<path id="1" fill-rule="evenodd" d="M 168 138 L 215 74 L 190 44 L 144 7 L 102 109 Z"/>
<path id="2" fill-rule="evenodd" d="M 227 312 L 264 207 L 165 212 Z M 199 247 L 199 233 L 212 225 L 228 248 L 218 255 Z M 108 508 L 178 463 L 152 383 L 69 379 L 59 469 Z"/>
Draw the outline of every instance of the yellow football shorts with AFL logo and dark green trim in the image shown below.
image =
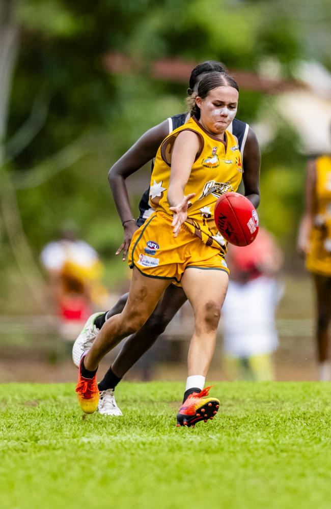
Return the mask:
<path id="1" fill-rule="evenodd" d="M 137 230 L 131 240 L 128 263 L 148 277 L 174 279 L 180 282 L 188 268 L 229 269 L 223 254 L 207 246 L 192 234 L 185 224 L 175 238 L 172 217 L 162 212 L 154 213 Z"/>

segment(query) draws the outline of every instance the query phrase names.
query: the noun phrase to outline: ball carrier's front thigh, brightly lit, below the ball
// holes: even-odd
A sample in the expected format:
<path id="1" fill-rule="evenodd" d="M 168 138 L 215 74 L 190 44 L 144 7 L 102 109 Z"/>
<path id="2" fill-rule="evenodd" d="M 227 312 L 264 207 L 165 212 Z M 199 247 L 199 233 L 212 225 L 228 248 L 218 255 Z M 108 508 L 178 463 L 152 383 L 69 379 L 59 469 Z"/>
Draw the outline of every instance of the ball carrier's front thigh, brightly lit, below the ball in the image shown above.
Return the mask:
<path id="1" fill-rule="evenodd" d="M 181 284 L 196 318 L 219 315 L 227 294 L 228 283 L 229 276 L 224 270 L 193 267 L 185 270 Z"/>

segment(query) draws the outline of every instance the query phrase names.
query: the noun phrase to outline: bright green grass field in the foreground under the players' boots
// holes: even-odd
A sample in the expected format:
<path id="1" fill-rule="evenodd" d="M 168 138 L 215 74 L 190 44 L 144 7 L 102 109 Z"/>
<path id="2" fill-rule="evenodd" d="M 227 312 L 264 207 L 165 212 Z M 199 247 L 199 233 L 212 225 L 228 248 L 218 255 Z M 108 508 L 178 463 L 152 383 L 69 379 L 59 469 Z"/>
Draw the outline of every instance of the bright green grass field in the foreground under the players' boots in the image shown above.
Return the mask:
<path id="1" fill-rule="evenodd" d="M 179 383 L 125 383 L 82 419 L 72 384 L 0 385 L 2 509 L 331 506 L 331 384 L 217 383 L 176 428 Z"/>

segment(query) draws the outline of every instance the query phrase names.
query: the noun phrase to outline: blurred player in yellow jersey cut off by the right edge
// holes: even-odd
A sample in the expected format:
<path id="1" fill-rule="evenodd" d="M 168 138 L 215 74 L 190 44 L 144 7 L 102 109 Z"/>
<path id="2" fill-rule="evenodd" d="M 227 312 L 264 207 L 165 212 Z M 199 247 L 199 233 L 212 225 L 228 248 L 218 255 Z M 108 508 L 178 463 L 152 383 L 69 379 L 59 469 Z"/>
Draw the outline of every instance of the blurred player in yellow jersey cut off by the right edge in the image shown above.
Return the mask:
<path id="1" fill-rule="evenodd" d="M 305 211 L 302 216 L 298 250 L 306 257 L 312 273 L 317 303 L 317 359 L 319 379 L 331 379 L 328 326 L 331 319 L 331 155 L 308 163 Z"/>

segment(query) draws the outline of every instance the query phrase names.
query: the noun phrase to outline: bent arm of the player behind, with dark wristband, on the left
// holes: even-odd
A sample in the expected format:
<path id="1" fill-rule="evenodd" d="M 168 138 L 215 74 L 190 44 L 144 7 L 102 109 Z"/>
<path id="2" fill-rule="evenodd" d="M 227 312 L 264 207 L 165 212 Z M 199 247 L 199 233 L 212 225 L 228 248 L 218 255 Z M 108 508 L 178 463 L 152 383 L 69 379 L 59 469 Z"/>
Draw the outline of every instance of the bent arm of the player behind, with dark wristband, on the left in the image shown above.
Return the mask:
<path id="1" fill-rule="evenodd" d="M 153 159 L 163 139 L 169 134 L 168 120 L 149 129 L 137 142 L 109 169 L 108 181 L 114 196 L 115 205 L 124 228 L 124 240 L 116 251 L 123 251 L 123 261 L 137 226 L 133 221 L 125 179 Z"/>

